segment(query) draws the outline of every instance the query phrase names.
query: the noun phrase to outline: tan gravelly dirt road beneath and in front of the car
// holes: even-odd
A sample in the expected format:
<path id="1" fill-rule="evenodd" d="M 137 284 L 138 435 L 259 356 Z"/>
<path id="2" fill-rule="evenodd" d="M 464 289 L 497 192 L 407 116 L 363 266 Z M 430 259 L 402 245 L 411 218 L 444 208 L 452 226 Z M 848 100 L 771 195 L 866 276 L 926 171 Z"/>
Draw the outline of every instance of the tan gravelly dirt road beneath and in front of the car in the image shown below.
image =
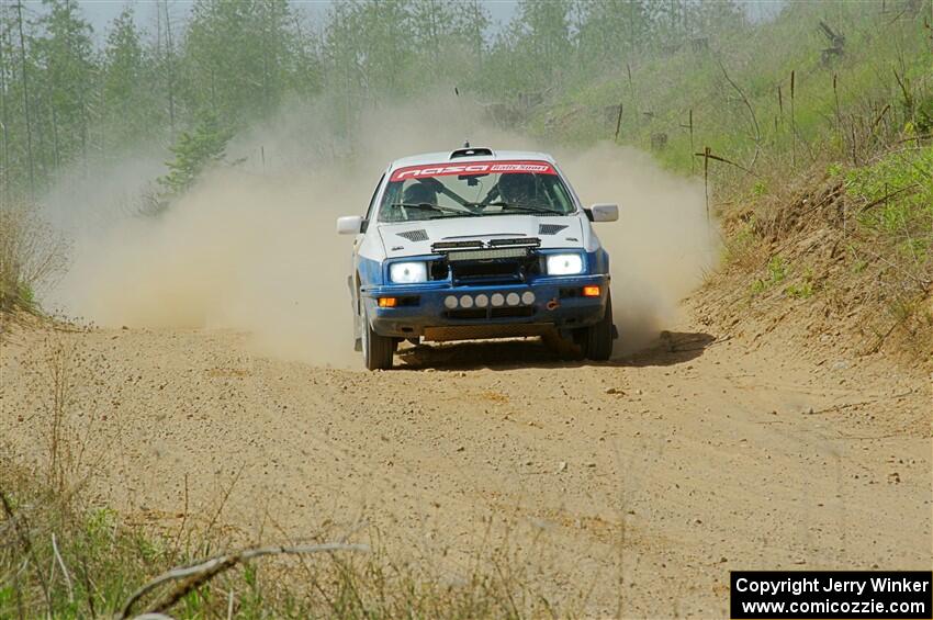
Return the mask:
<path id="1" fill-rule="evenodd" d="M 43 358 L 64 342 L 91 488 L 130 520 L 220 507 L 263 540 L 364 521 L 451 577 L 499 548 L 593 616 L 724 617 L 735 568 L 929 570 L 929 377 L 693 316 L 608 364 L 510 341 L 387 373 L 229 331 L 19 330 L 0 433 L 42 458 Z"/>

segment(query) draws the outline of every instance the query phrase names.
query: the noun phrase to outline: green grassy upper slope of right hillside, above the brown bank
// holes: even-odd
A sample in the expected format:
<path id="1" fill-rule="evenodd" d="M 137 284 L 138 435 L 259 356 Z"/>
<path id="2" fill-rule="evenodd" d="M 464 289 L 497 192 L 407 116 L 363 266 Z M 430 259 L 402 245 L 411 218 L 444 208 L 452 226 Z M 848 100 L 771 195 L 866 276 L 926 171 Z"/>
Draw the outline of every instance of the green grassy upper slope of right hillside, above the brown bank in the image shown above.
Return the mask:
<path id="1" fill-rule="evenodd" d="M 651 135 L 664 133 L 666 147 L 655 157 L 685 173 L 702 172 L 694 153 L 705 146 L 764 177 L 773 176 L 776 162 L 782 168 L 778 178 L 785 168 L 803 169 L 824 150 L 847 157 L 853 123 L 857 140 L 867 144 L 873 133 L 899 131 L 909 122 L 922 124 L 929 119 L 928 108 L 933 110 L 929 97 L 933 55 L 923 25 L 929 3 L 899 19 L 893 19 L 902 8 L 897 2 L 888 2 L 888 13 L 880 8 L 873 2 L 789 3 L 778 19 L 754 33 L 711 41 L 708 50 L 686 46 L 642 61 L 631 67 L 631 81 L 622 64 L 603 79 L 565 89 L 553 109 L 533 120 L 532 128 L 571 143 L 611 139 L 615 120 L 607 110 L 621 104 L 619 142 L 650 148 Z M 818 29 L 821 20 L 846 37 L 844 55 L 827 64 L 821 60 L 827 47 Z M 920 102 L 910 110 L 895 71 Z M 861 125 L 862 117 L 870 119 L 866 123 L 870 125 L 886 105 L 890 109 L 874 129 Z M 559 125 L 547 124 L 547 117 L 564 114 L 566 120 Z M 719 170 L 723 165 L 711 166 Z M 716 173 L 756 182 L 743 178 L 738 168 Z"/>

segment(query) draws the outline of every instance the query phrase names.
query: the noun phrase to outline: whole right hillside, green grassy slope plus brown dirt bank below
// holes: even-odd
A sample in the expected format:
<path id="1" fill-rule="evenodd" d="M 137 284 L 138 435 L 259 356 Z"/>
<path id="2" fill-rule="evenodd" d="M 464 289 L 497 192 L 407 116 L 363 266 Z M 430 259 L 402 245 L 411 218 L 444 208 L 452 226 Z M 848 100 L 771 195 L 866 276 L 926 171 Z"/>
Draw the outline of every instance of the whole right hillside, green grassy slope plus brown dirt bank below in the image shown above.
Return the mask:
<path id="1" fill-rule="evenodd" d="M 649 149 L 652 135 L 665 134 L 653 156 L 668 169 L 704 176 L 695 154 L 709 147 L 735 164 L 709 161 L 710 194 L 723 262 L 752 298 L 778 289 L 787 300 L 847 291 L 869 315 L 909 322 L 928 307 L 921 301 L 933 281 L 931 4 L 791 2 L 753 33 L 622 63 L 565 89 L 531 127 L 577 144 L 612 139 L 609 111 L 621 105 L 619 144 Z M 844 54 L 828 61 L 821 21 L 845 36 Z M 839 219 L 799 207 L 830 180 L 843 184 Z M 784 217 L 789 208 L 799 213 Z M 817 227 L 835 227 L 850 248 L 846 268 L 832 275 L 814 273 L 831 261 L 785 249 L 798 230 Z"/>

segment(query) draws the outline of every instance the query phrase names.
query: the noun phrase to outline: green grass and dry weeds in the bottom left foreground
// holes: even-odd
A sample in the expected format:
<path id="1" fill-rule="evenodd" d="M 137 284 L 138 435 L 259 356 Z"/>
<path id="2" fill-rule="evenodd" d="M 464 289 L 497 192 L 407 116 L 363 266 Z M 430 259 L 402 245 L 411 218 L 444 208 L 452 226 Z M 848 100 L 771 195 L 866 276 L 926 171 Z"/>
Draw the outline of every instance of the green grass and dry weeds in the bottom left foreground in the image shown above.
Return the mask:
<path id="1" fill-rule="evenodd" d="M 0 471 L 10 507 L 0 509 L 0 618 L 112 617 L 158 574 L 232 544 L 210 532 L 192 532 L 199 549 L 186 552 L 171 536 L 128 526 L 112 510 L 85 506 L 80 493 L 53 494 L 35 485 L 36 476 L 14 471 Z M 381 539 L 379 532 L 359 536 Z M 176 618 L 225 618 L 234 593 L 235 617 L 245 619 L 573 615 L 572 608 L 562 610 L 533 591 L 524 563 L 509 553 L 493 545 L 476 550 L 468 574 L 459 577 L 395 559 L 378 542 L 369 553 L 257 560 L 190 589 L 167 611 Z M 133 615 L 170 587 L 144 598 Z"/>

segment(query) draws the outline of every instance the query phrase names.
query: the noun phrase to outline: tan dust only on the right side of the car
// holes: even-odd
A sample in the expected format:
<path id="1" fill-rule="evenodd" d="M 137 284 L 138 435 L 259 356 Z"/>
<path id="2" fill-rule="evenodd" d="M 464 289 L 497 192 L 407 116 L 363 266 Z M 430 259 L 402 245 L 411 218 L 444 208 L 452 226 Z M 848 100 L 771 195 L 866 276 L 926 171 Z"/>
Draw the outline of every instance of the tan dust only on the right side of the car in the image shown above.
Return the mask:
<path id="1" fill-rule="evenodd" d="M 615 353 L 636 351 L 676 326 L 681 300 L 716 264 L 719 236 L 702 183 L 610 144 L 555 157 L 584 205 L 619 204 L 618 222 L 594 228 L 609 252 Z"/>

